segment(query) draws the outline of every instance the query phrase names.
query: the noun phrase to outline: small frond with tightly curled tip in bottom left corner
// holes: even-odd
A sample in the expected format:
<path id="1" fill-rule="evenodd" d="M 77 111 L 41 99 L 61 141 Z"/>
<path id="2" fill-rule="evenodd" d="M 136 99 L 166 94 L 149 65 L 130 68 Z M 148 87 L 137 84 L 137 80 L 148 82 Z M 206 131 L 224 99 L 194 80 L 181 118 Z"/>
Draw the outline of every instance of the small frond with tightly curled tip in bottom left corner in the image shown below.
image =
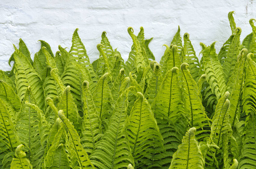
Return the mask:
<path id="1" fill-rule="evenodd" d="M 18 169 L 18 168 L 33 168 L 32 164 L 26 157 L 26 153 L 23 152 L 21 149 L 24 147 L 23 144 L 20 144 L 15 150 L 16 158 L 12 159 L 11 162 L 11 169 Z"/>

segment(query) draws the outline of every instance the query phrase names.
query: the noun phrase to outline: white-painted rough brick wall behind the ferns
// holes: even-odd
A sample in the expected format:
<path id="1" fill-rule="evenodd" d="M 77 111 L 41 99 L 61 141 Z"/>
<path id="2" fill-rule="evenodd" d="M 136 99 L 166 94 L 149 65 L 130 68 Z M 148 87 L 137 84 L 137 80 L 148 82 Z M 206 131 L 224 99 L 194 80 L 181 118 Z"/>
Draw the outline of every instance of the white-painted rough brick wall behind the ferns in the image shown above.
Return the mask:
<path id="1" fill-rule="evenodd" d="M 217 52 L 231 35 L 228 12 L 235 11 L 236 25 L 242 28 L 241 40 L 251 33 L 249 19 L 256 18 L 256 2 L 253 0 L 1 0 L 0 2 L 0 69 L 10 70 L 8 59 L 18 45 L 19 38 L 34 54 L 40 49 L 40 42 L 48 42 L 53 50 L 58 45 L 71 47 L 73 31 L 79 28 L 90 60 L 99 56 L 97 44 L 101 33 L 107 37 L 113 48 L 118 48 L 127 60 L 132 39 L 128 26 L 137 34 L 140 26 L 145 29 L 145 38 L 154 37 L 150 48 L 159 61 L 164 52 L 163 44 L 170 45 L 178 25 L 181 35 L 188 32 L 190 40 L 199 55 L 199 42 L 216 43 Z"/>

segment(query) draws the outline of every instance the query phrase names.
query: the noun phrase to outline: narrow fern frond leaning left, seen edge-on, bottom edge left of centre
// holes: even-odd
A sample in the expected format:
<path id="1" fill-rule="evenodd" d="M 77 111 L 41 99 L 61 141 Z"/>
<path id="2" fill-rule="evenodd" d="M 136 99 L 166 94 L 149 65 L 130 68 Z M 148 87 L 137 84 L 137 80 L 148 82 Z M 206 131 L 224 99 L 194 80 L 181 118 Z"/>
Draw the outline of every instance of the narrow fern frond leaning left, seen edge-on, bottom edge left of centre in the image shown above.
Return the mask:
<path id="1" fill-rule="evenodd" d="M 66 126 L 66 130 L 68 132 L 68 137 L 70 137 L 71 141 L 71 149 L 73 153 L 71 157 L 72 161 L 78 162 L 80 168 L 94 168 L 93 164 L 90 162 L 90 159 L 88 158 L 88 154 L 83 149 L 83 146 L 80 143 L 80 137 L 77 134 L 77 131 L 75 130 L 72 123 L 65 117 L 62 110 L 59 110 L 59 118 L 64 123 L 64 126 Z"/>

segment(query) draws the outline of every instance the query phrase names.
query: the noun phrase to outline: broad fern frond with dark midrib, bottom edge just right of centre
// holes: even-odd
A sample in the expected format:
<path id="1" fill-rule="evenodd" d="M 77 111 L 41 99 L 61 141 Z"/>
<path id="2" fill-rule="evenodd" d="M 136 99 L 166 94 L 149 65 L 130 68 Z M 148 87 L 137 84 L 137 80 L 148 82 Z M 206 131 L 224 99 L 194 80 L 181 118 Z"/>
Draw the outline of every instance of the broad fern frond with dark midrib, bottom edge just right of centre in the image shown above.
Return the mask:
<path id="1" fill-rule="evenodd" d="M 160 167 L 158 155 L 163 151 L 163 138 L 149 103 L 140 92 L 137 94 L 125 124 L 134 163 L 137 168 Z"/>

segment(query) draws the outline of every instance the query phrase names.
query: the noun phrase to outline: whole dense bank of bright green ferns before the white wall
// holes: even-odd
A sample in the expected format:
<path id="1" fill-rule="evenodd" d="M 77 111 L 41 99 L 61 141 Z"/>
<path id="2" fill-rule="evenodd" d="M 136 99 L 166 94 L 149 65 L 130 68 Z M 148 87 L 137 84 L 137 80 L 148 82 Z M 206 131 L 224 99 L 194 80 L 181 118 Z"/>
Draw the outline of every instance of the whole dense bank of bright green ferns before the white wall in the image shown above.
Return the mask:
<path id="1" fill-rule="evenodd" d="M 128 28 L 126 62 L 106 32 L 90 63 L 77 29 L 68 52 L 48 43 L 31 59 L 20 39 L 0 70 L 1 168 L 256 168 L 256 27 L 198 60 L 180 28 L 155 61 Z M 256 116 L 256 115 L 255 115 Z"/>

